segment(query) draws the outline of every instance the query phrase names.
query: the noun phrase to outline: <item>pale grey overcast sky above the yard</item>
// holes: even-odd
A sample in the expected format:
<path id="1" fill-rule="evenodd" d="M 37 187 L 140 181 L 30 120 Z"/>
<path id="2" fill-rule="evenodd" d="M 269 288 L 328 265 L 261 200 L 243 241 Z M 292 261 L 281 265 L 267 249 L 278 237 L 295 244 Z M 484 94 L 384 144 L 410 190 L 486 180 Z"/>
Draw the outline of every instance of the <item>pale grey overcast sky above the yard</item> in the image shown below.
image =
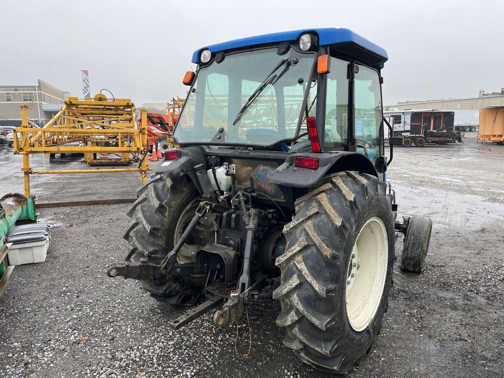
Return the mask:
<path id="1" fill-rule="evenodd" d="M 166 102 L 194 50 L 246 36 L 344 27 L 384 47 L 384 104 L 504 87 L 503 1 L 0 0 L 0 85 L 44 80 L 91 94 Z"/>

